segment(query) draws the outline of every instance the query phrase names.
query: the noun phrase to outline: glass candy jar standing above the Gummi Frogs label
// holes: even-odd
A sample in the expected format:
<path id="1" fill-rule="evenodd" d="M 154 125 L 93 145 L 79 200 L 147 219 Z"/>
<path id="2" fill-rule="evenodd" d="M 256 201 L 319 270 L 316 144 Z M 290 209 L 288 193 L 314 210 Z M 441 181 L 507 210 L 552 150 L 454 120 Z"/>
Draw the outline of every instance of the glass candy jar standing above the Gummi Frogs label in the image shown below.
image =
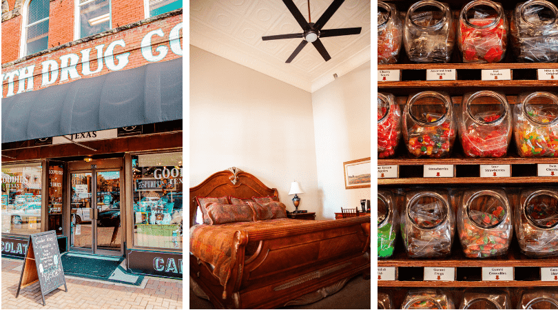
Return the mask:
<path id="1" fill-rule="evenodd" d="M 411 191 L 401 214 L 404 247 L 412 258 L 448 256 L 455 231 L 447 192 Z"/>

